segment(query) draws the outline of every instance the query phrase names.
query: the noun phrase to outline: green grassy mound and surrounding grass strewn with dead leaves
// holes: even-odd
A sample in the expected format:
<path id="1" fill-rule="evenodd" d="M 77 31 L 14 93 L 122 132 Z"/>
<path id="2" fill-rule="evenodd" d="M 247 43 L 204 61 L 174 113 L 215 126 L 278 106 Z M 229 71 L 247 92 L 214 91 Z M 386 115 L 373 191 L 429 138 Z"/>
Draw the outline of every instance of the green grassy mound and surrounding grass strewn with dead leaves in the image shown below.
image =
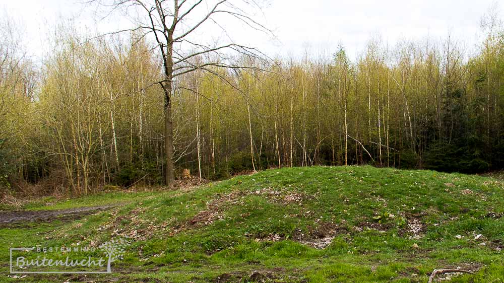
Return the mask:
<path id="1" fill-rule="evenodd" d="M 186 190 L 113 192 L 29 210 L 120 203 L 78 219 L 5 224 L 9 246 L 133 242 L 110 275 L 24 280 L 457 282 L 504 278 L 504 181 L 364 167 L 271 169 Z M 8 277 L 3 264 L 2 280 Z M 12 275 L 11 275 L 12 276 Z"/>

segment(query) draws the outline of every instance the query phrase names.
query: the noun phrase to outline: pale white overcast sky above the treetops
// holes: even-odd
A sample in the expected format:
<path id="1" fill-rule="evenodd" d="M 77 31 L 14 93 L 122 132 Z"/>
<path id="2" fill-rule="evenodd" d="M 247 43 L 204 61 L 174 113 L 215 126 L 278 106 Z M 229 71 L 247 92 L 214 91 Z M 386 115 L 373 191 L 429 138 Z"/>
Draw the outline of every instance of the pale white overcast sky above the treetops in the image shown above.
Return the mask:
<path id="1" fill-rule="evenodd" d="M 244 32 L 238 26 L 232 27 L 229 34 L 235 41 L 255 45 L 272 56 L 302 56 L 305 50 L 331 54 L 341 43 L 354 57 L 376 36 L 393 46 L 402 39 L 423 40 L 428 36 L 440 40 L 449 32 L 470 51 L 481 40 L 480 19 L 494 3 L 495 0 L 271 0 L 264 7 L 262 22 L 274 30 L 279 41 Z M 25 45 L 37 58 L 46 50 L 47 36 L 58 19 L 74 18 L 77 27 L 98 27 L 100 32 L 130 25 L 121 17 L 96 23 L 93 10 L 75 0 L 0 0 L 0 9 L 24 27 Z"/>

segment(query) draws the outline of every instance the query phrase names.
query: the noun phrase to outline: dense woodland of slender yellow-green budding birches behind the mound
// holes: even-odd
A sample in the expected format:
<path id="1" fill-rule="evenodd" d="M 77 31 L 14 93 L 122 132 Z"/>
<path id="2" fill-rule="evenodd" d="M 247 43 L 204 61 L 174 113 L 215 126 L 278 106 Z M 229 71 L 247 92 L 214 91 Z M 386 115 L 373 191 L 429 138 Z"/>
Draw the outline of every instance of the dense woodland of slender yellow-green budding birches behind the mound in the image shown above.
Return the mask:
<path id="1" fill-rule="evenodd" d="M 250 68 L 173 82 L 173 161 L 208 179 L 273 167 L 390 166 L 477 173 L 504 168 L 504 34 L 370 40 L 357 58 L 235 58 Z M 161 60 L 128 36 L 59 29 L 35 63 L 0 27 L 3 193 L 84 194 L 163 183 Z M 192 60 L 215 60 L 195 56 Z M 268 62 L 268 63 L 265 63 Z"/>

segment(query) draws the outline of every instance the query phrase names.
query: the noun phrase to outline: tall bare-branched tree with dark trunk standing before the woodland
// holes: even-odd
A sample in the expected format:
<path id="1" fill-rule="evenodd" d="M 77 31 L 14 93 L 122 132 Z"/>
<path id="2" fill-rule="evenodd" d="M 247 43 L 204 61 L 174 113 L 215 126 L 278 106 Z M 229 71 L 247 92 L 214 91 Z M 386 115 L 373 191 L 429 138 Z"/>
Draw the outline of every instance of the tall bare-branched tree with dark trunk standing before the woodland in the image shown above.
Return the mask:
<path id="1" fill-rule="evenodd" d="M 172 96 L 174 91 L 186 89 L 197 95 L 197 90 L 179 86 L 177 77 L 195 72 L 206 72 L 222 76 L 218 68 L 227 69 L 261 69 L 244 65 L 233 60 L 236 55 L 249 57 L 253 61 L 266 61 L 267 58 L 258 49 L 235 43 L 227 33 L 226 23 L 239 23 L 242 26 L 272 35 L 271 31 L 255 20 L 255 13 L 261 11 L 256 0 L 91 0 L 98 2 L 109 10 L 134 10 L 140 15 L 135 20 L 135 27 L 120 32 L 137 32 L 140 38 L 150 36 L 155 42 L 155 50 L 162 58 L 162 79 L 160 85 L 164 94 L 164 147 L 166 152 L 165 182 L 173 183 L 173 124 Z M 227 25 L 228 26 L 228 25 Z M 203 37 L 195 37 L 195 31 L 218 33 L 222 36 L 218 43 L 205 42 Z M 233 55 L 234 54 L 234 55 Z M 200 58 L 204 57 L 204 60 Z M 232 87 L 232 82 L 227 81 Z M 154 85 L 154 84 L 153 84 Z"/>

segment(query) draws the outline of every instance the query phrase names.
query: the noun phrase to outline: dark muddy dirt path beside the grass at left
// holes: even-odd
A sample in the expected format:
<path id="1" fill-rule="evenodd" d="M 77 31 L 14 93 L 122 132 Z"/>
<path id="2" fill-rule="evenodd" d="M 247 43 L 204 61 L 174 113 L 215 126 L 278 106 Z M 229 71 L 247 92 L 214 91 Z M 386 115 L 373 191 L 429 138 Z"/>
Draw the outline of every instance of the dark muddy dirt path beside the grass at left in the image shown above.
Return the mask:
<path id="1" fill-rule="evenodd" d="M 61 210 L 8 210 L 0 211 L 0 225 L 19 224 L 25 222 L 50 222 L 59 220 L 74 220 L 85 215 L 106 210 L 114 205 L 88 206 Z"/>

